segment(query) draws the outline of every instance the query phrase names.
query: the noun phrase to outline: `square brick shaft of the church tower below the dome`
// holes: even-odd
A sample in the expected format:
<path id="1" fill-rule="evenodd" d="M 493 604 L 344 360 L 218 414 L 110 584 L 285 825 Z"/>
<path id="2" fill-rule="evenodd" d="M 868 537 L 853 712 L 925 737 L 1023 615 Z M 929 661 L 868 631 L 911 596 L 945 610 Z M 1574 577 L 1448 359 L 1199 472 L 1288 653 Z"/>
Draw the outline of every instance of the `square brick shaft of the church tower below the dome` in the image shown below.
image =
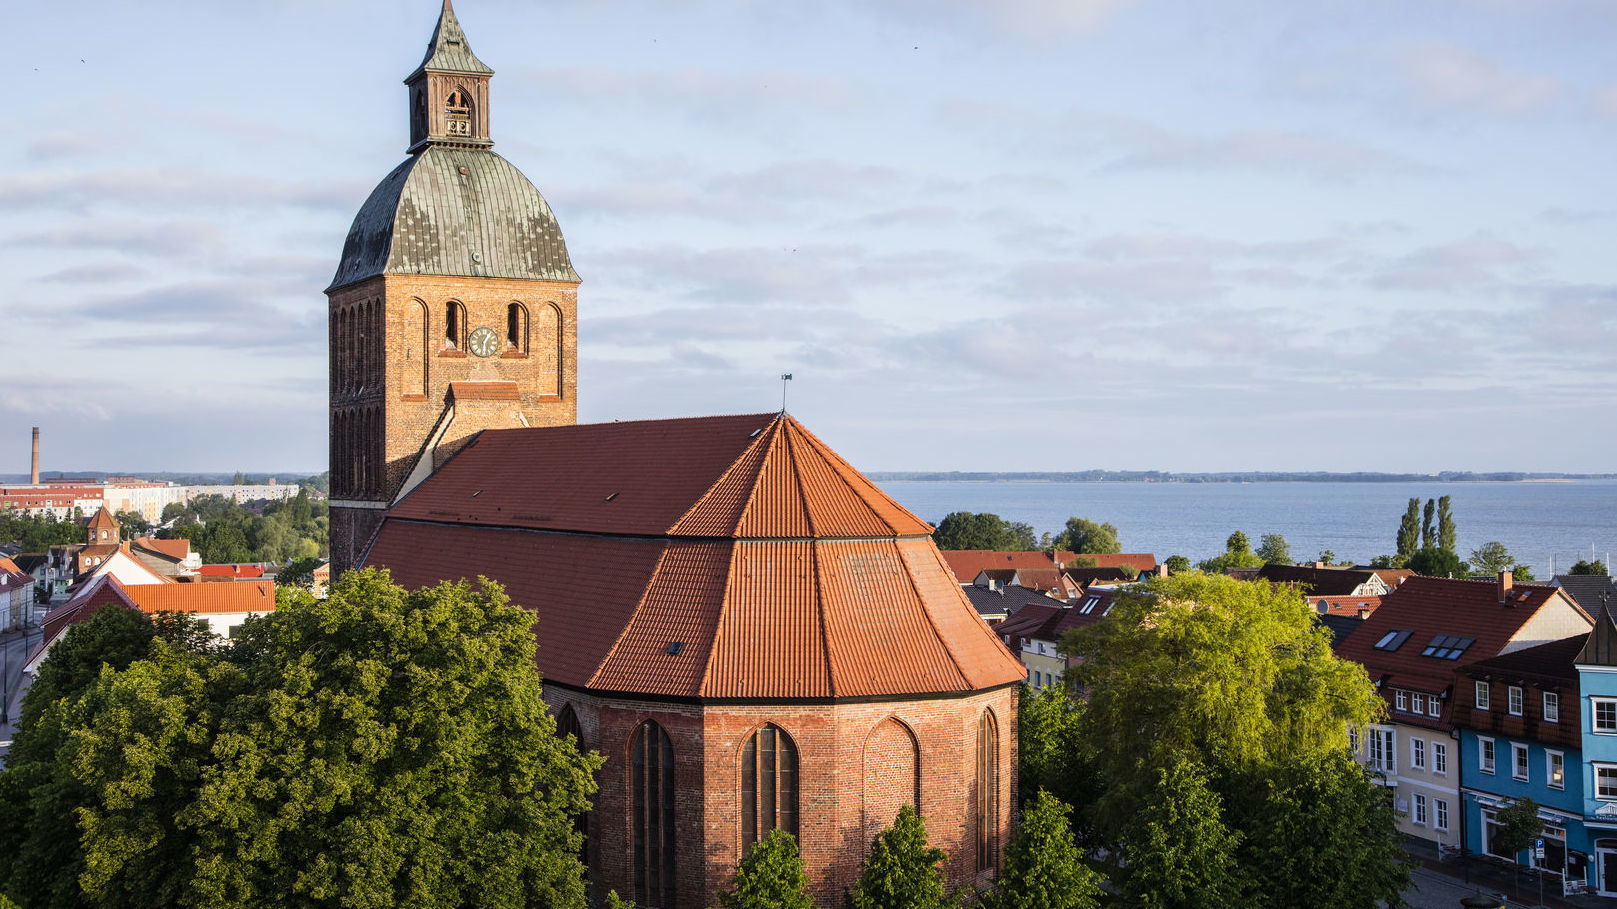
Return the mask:
<path id="1" fill-rule="evenodd" d="M 451 382 L 516 382 L 519 401 L 514 414 L 511 406 L 459 408 L 438 463 L 490 425 L 577 422 L 577 312 L 579 288 L 569 281 L 382 275 L 330 293 L 335 573 L 359 563 L 382 522 L 380 509 L 341 503 L 393 500 L 448 416 Z M 467 349 L 482 327 L 498 338 L 493 356 Z"/>

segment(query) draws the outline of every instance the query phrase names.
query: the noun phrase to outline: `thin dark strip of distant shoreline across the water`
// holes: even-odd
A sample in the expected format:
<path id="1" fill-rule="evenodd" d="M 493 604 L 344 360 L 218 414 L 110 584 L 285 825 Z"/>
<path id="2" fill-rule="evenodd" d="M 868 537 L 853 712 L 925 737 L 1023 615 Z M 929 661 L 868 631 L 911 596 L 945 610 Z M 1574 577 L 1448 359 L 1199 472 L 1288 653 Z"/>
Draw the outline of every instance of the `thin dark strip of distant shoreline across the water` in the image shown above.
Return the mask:
<path id="1" fill-rule="evenodd" d="M 1528 474 L 1528 472 L 1471 472 L 1442 471 L 1438 474 L 1331 474 L 1323 471 L 1284 472 L 1250 471 L 1222 474 L 1172 474 L 1166 471 L 1033 471 L 1033 472 L 977 472 L 977 471 L 872 471 L 875 482 L 959 482 L 959 484 L 1554 484 L 1578 480 L 1617 480 L 1617 474 Z"/>

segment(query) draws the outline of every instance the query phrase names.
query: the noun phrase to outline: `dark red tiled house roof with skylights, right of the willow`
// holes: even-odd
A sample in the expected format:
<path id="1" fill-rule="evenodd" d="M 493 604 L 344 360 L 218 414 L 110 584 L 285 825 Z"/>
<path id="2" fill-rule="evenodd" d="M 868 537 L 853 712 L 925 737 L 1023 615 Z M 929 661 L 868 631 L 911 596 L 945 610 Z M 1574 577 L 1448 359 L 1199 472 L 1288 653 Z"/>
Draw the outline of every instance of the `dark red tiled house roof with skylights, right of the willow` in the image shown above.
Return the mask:
<path id="1" fill-rule="evenodd" d="M 1384 697 L 1391 697 L 1392 687 L 1441 694 L 1454 684 L 1457 668 L 1497 657 L 1547 605 L 1588 621 L 1588 613 L 1554 587 L 1515 584 L 1501 603 L 1494 581 L 1415 576 L 1381 598 L 1381 607 L 1342 642 L 1337 655 L 1362 663 L 1371 679 L 1384 681 Z M 1395 650 L 1378 650 L 1376 644 L 1395 631 L 1410 634 Z M 1459 660 L 1423 657 L 1421 650 L 1438 636 L 1473 642 Z"/>

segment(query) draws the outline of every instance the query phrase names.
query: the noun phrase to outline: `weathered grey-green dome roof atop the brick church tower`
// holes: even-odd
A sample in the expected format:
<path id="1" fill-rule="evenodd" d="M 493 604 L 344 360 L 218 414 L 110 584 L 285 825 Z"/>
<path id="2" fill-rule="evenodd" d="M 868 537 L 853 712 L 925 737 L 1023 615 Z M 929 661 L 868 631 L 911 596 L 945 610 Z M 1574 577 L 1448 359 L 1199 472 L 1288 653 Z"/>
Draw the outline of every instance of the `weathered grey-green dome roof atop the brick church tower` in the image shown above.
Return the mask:
<path id="1" fill-rule="evenodd" d="M 377 184 L 327 293 L 377 275 L 579 281 L 556 215 L 522 171 L 488 149 L 445 146 Z"/>

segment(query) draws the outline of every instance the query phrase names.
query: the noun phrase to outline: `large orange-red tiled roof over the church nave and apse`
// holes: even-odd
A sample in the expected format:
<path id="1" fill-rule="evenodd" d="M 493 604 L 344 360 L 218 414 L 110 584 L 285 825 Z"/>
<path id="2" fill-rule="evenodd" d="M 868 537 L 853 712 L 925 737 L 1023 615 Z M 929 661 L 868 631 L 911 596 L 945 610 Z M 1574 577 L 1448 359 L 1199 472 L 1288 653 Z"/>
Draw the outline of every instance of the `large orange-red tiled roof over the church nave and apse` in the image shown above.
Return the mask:
<path id="1" fill-rule="evenodd" d="M 689 700 L 1022 681 L 931 527 L 783 414 L 488 430 L 383 521 L 406 587 L 479 574 L 548 681 Z"/>

